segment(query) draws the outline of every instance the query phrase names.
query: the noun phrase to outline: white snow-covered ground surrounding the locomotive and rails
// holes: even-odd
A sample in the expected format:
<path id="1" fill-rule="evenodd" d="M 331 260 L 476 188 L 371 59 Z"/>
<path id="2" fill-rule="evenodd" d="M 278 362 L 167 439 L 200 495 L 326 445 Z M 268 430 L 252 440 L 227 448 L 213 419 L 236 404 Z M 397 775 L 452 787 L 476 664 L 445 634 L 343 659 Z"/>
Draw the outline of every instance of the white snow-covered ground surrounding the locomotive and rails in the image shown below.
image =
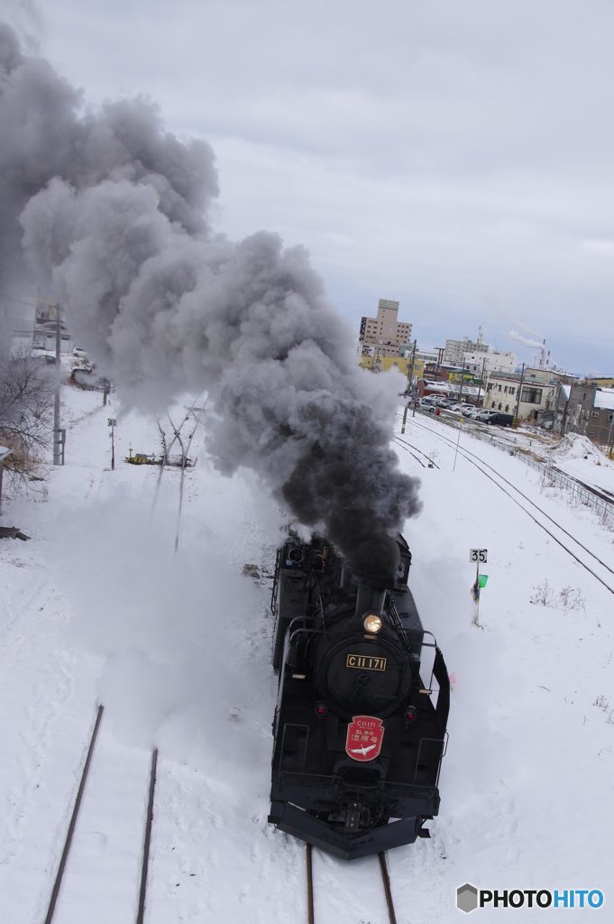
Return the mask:
<path id="1" fill-rule="evenodd" d="M 276 683 L 266 576 L 283 512 L 250 473 L 215 472 L 202 451 L 205 418 L 175 554 L 179 473 L 165 471 L 157 492 L 157 468 L 122 461 L 130 447 L 159 450 L 155 420 L 70 388 L 63 415 L 66 466 L 35 497 L 3 506 L 3 525 L 31 540 L 0 546 L 0 921 L 44 919 L 99 702 L 55 924 L 135 919 L 153 747 L 148 924 L 307 919 L 304 846 L 267 823 Z M 398 919 L 461 919 L 455 890 L 468 881 L 598 888 L 603 908 L 568 914 L 609 920 L 612 594 L 463 456 L 452 470 L 454 449 L 439 438 L 450 433 L 437 420 L 408 420 L 405 438 L 439 468 L 399 450 L 422 480 L 422 513 L 404 530 L 411 586 L 453 693 L 432 838 L 389 856 Z M 614 567 L 614 536 L 590 512 L 469 430 L 463 445 Z M 613 470 L 599 472 L 612 492 Z M 488 548 L 483 630 L 469 593 L 476 547 Z M 247 564 L 260 580 L 242 575 Z M 550 605 L 532 602 L 548 597 L 546 582 Z M 318 924 L 387 919 L 374 857 L 344 864 L 318 853 L 314 874 Z M 551 913 L 480 910 L 476 919 Z"/>

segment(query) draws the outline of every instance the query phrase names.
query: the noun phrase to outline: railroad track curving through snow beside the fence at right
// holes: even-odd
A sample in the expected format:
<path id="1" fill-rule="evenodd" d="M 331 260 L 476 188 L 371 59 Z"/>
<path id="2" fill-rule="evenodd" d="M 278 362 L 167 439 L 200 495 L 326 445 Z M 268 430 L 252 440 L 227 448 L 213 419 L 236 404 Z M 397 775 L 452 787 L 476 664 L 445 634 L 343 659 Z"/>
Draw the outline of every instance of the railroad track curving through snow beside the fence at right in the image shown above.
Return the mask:
<path id="1" fill-rule="evenodd" d="M 400 415 L 399 415 L 400 416 Z M 596 580 L 609 590 L 610 593 L 614 594 L 614 568 L 610 567 L 607 562 L 600 558 L 596 553 L 594 553 L 588 546 L 584 545 L 583 542 L 576 539 L 572 533 L 560 526 L 560 523 L 557 522 L 535 501 L 531 500 L 520 488 L 517 488 L 512 481 L 505 478 L 497 471 L 496 468 L 489 465 L 488 462 L 485 462 L 480 456 L 476 456 L 475 453 L 472 453 L 471 450 L 466 449 L 464 446 L 458 446 L 458 444 L 452 440 L 450 437 L 445 436 L 443 433 L 438 433 L 432 430 L 430 427 L 427 427 L 423 423 L 417 423 L 415 420 L 412 421 L 412 426 L 417 427 L 420 430 L 428 432 L 431 436 L 437 437 L 439 440 L 449 445 L 451 449 L 458 451 L 459 456 L 463 456 L 464 459 L 477 468 L 486 478 L 492 481 L 500 491 L 512 500 L 514 504 L 519 506 L 521 510 L 524 510 L 524 513 L 527 517 L 530 517 L 534 523 L 544 532 L 548 533 L 548 536 L 560 545 L 566 553 L 571 555 L 571 557 L 581 565 L 590 575 L 596 578 Z M 400 437 L 395 437 L 395 440 L 399 441 Z M 488 469 L 488 470 L 486 470 Z M 506 487 L 507 485 L 507 487 Z M 512 489 L 511 491 L 508 488 Z M 512 493 L 513 492 L 513 493 Z M 517 496 L 515 496 L 517 495 Z M 519 500 L 522 498 L 522 501 Z M 529 505 L 528 509 L 526 505 Z M 536 516 L 537 514 L 538 516 Z M 541 517 L 541 518 L 540 518 Z M 548 525 L 543 522 L 547 520 Z M 565 538 L 562 538 L 565 537 Z M 572 547 L 568 541 L 571 541 Z"/>

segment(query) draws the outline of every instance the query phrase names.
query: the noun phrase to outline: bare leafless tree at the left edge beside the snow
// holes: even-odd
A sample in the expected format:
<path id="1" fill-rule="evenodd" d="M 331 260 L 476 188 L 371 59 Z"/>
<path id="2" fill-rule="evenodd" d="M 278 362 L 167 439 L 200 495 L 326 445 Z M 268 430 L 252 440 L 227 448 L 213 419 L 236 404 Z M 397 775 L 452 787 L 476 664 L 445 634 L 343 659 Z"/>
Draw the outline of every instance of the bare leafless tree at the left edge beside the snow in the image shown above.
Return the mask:
<path id="1" fill-rule="evenodd" d="M 12 450 L 5 469 L 21 485 L 36 478 L 52 438 L 54 374 L 27 350 L 0 353 L 0 444 Z"/>

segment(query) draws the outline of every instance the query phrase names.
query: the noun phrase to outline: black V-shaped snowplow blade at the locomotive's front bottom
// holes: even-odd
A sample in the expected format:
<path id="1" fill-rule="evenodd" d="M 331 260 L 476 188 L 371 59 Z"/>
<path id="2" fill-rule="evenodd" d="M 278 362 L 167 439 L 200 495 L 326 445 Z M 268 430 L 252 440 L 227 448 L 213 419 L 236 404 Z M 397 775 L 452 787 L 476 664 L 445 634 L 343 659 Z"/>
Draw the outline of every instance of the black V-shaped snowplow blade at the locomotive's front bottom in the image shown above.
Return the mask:
<path id="1" fill-rule="evenodd" d="M 391 847 L 400 847 L 413 844 L 418 832 L 415 830 L 415 818 L 404 818 L 392 821 L 391 824 L 374 828 L 362 835 L 334 831 L 325 821 L 319 821 L 313 815 L 307 815 L 300 808 L 290 805 L 289 802 L 271 803 L 269 821 L 287 834 L 300 837 L 307 844 L 321 847 L 335 857 L 343 860 L 355 860 L 358 857 L 368 857 Z M 424 835 L 422 835 L 424 836 Z"/>

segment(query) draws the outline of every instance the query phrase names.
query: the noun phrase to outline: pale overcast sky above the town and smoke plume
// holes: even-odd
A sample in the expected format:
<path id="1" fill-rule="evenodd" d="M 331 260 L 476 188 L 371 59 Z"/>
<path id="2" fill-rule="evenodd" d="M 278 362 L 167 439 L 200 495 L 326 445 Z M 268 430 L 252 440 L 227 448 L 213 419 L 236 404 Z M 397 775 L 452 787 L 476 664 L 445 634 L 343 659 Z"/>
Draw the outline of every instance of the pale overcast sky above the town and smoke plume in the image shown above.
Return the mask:
<path id="1" fill-rule="evenodd" d="M 216 227 L 305 244 L 355 322 L 614 374 L 611 0 L 0 0 L 88 103 L 217 154 Z M 32 50 L 30 45 L 30 51 Z"/>

